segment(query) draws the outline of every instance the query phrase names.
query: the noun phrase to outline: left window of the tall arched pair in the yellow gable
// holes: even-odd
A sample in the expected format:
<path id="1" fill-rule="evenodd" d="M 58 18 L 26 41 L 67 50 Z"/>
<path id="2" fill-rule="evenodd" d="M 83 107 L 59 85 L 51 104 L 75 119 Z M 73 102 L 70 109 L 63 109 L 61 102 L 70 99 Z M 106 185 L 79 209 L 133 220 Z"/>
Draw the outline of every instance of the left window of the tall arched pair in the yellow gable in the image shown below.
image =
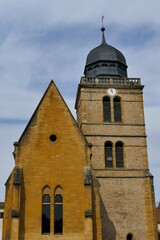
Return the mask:
<path id="1" fill-rule="evenodd" d="M 50 233 L 50 188 L 45 186 L 42 191 L 42 234 Z"/>

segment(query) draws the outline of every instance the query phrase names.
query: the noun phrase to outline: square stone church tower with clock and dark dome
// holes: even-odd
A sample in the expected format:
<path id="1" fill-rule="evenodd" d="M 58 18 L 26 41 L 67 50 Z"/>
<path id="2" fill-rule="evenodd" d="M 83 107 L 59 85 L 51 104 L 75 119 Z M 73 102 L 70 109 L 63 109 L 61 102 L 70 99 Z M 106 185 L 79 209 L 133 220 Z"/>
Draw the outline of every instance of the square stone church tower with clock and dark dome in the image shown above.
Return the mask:
<path id="1" fill-rule="evenodd" d="M 123 54 L 102 43 L 87 56 L 75 108 L 92 144 L 100 185 L 103 240 L 155 240 L 153 176 L 148 169 L 140 78 L 127 77 Z"/>

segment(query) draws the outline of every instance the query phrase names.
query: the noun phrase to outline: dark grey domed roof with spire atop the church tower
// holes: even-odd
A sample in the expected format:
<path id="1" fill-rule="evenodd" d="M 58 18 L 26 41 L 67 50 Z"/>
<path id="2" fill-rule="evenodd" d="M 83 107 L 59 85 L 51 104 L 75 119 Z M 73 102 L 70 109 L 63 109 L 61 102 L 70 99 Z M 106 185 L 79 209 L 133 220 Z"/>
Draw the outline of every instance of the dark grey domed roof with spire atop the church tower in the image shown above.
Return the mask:
<path id="1" fill-rule="evenodd" d="M 127 77 L 127 64 L 124 55 L 106 43 L 104 27 L 101 28 L 101 31 L 102 43 L 89 52 L 84 70 L 85 76 Z"/>

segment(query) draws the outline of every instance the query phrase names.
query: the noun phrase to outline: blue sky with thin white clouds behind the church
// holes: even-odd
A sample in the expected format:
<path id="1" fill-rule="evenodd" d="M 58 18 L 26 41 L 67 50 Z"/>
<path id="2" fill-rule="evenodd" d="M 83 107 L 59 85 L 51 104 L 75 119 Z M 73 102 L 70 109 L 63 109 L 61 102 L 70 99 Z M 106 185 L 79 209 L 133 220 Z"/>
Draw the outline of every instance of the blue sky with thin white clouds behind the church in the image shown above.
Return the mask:
<path id="1" fill-rule="evenodd" d="M 53 79 L 71 111 L 88 52 L 106 40 L 140 77 L 149 167 L 160 201 L 160 1 L 0 0 L 0 201 L 17 141 Z"/>

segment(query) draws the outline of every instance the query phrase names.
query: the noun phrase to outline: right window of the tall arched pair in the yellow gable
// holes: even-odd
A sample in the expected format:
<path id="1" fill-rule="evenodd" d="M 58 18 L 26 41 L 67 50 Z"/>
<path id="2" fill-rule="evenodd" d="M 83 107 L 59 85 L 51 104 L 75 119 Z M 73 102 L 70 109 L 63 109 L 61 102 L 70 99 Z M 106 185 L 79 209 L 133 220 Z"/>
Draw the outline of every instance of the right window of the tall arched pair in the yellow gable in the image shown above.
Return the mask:
<path id="1" fill-rule="evenodd" d="M 57 186 L 54 192 L 54 234 L 63 233 L 63 196 L 62 188 Z"/>

